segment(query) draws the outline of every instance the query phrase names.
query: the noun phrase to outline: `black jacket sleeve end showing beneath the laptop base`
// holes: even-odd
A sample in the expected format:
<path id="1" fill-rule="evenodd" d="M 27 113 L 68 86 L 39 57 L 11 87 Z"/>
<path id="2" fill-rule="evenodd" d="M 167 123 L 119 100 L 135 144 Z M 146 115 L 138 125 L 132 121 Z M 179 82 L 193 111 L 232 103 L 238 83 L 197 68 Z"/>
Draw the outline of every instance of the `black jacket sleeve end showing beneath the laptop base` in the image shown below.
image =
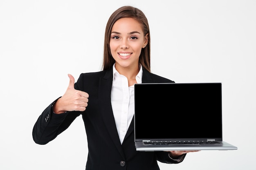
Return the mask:
<path id="1" fill-rule="evenodd" d="M 169 156 L 169 152 L 165 151 L 157 151 L 157 161 L 162 162 L 162 163 L 180 163 L 184 160 L 186 154 L 181 155 L 178 157 L 178 159 L 172 159 Z"/>

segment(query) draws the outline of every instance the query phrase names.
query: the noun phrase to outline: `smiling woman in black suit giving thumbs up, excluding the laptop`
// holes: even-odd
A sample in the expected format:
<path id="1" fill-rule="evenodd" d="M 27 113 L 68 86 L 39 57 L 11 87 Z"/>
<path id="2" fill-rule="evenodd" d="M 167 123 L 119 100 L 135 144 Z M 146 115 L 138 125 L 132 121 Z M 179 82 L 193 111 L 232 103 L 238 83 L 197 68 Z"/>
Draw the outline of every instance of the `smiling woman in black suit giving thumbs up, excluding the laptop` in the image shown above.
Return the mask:
<path id="1" fill-rule="evenodd" d="M 134 84 L 173 82 L 150 73 L 150 32 L 142 11 L 125 6 L 109 18 L 103 71 L 68 75 L 65 94 L 50 104 L 33 128 L 47 144 L 82 115 L 88 138 L 86 170 L 159 170 L 157 160 L 180 163 L 187 152 L 141 152 L 134 144 Z M 90 97 L 89 97 L 90 95 Z"/>

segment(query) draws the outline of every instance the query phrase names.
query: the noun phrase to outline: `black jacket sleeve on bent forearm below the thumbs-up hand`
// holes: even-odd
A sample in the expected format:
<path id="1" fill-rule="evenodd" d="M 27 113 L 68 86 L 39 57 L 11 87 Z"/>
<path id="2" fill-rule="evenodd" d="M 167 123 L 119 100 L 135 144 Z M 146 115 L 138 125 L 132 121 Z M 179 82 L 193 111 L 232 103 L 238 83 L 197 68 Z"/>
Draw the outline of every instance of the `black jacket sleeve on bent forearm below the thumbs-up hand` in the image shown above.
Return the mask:
<path id="1" fill-rule="evenodd" d="M 54 102 L 56 102 L 56 99 Z M 36 144 L 47 144 L 55 139 L 61 132 L 66 130 L 81 112 L 73 111 L 62 114 L 55 114 L 50 104 L 38 117 L 32 130 L 33 140 Z"/>

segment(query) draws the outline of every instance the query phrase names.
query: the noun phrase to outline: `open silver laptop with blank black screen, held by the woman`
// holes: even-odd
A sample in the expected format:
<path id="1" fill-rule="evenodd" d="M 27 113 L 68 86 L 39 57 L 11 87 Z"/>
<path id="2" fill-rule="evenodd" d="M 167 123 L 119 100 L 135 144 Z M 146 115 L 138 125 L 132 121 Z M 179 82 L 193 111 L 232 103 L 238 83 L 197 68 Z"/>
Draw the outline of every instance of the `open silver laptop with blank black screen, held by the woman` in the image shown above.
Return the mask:
<path id="1" fill-rule="evenodd" d="M 137 151 L 237 150 L 222 141 L 222 83 L 135 84 Z"/>

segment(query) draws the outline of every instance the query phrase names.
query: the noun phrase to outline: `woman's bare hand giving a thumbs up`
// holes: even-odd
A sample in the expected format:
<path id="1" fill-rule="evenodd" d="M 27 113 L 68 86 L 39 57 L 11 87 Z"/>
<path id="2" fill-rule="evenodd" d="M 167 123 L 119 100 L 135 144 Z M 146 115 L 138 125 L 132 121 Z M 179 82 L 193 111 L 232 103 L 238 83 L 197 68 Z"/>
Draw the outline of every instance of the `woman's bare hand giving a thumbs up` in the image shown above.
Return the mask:
<path id="1" fill-rule="evenodd" d="M 65 113 L 66 111 L 84 111 L 88 106 L 88 93 L 79 91 L 74 88 L 75 79 L 71 74 L 69 85 L 65 94 L 57 100 L 53 106 L 53 111 L 56 114 Z"/>

